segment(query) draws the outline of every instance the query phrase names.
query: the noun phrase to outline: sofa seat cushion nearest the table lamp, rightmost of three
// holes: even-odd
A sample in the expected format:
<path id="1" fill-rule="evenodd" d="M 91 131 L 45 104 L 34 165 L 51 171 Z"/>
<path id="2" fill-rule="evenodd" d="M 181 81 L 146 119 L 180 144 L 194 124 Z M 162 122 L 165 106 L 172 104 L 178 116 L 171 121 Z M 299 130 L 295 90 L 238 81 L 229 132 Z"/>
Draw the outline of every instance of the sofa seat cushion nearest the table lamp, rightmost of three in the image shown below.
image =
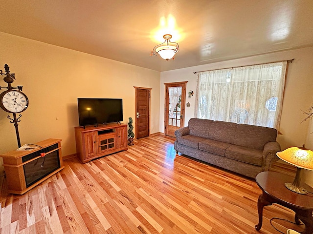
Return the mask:
<path id="1" fill-rule="evenodd" d="M 261 166 L 262 152 L 262 150 L 255 150 L 239 145 L 231 145 L 225 150 L 225 156 L 237 161 Z"/>

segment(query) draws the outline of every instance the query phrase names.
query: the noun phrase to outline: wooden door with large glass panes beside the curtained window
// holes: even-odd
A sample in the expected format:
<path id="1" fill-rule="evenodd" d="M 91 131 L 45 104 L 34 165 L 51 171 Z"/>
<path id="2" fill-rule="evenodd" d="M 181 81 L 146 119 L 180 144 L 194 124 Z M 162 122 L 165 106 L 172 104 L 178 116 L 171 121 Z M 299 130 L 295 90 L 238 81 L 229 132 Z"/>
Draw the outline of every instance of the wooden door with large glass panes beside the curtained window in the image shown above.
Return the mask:
<path id="1" fill-rule="evenodd" d="M 175 131 L 184 127 L 186 83 L 165 83 L 164 134 L 175 137 Z"/>

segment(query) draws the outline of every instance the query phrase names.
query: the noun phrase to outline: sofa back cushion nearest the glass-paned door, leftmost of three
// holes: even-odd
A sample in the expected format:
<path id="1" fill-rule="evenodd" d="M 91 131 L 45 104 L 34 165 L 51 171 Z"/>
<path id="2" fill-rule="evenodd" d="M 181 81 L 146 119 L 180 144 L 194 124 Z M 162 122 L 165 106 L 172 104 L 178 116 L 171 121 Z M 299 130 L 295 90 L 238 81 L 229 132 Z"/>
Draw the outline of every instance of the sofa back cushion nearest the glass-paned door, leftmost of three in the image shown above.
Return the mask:
<path id="1" fill-rule="evenodd" d="M 210 119 L 191 118 L 188 121 L 189 134 L 196 137 L 208 138 L 213 122 Z"/>

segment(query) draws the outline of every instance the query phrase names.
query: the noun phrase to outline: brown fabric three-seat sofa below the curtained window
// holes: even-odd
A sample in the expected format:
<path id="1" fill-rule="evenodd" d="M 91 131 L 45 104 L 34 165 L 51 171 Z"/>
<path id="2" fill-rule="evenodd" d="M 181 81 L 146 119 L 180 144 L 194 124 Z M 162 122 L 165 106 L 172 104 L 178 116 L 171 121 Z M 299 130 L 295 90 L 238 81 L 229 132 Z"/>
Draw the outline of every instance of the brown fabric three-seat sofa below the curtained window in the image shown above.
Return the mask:
<path id="1" fill-rule="evenodd" d="M 278 160 L 277 130 L 248 124 L 191 118 L 175 131 L 176 153 L 255 178 Z"/>

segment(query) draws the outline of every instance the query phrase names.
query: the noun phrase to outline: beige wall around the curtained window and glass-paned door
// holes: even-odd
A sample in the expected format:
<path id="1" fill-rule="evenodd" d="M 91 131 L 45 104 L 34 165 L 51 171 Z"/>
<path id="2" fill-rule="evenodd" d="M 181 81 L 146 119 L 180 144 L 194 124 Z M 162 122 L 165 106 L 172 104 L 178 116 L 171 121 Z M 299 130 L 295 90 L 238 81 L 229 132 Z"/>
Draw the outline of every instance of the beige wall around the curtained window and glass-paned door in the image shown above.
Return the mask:
<path id="1" fill-rule="evenodd" d="M 303 144 L 313 150 L 313 123 L 311 120 L 301 123 L 304 119 L 301 110 L 307 110 L 313 103 L 313 47 L 161 72 L 159 131 L 164 132 L 164 83 L 188 81 L 186 92 L 188 93 L 189 90 L 196 92 L 197 75 L 194 75 L 193 72 L 287 59 L 295 60 L 289 64 L 279 129 L 282 135 L 277 137 L 277 141 L 280 143 L 282 150 L 292 146 L 302 146 Z M 190 102 L 191 105 L 185 108 L 185 126 L 188 120 L 194 117 L 195 101 L 196 95 L 192 98 L 186 97 L 186 103 Z M 308 180 L 313 184 L 313 175 L 310 179 L 307 178 L 307 182 Z"/>

